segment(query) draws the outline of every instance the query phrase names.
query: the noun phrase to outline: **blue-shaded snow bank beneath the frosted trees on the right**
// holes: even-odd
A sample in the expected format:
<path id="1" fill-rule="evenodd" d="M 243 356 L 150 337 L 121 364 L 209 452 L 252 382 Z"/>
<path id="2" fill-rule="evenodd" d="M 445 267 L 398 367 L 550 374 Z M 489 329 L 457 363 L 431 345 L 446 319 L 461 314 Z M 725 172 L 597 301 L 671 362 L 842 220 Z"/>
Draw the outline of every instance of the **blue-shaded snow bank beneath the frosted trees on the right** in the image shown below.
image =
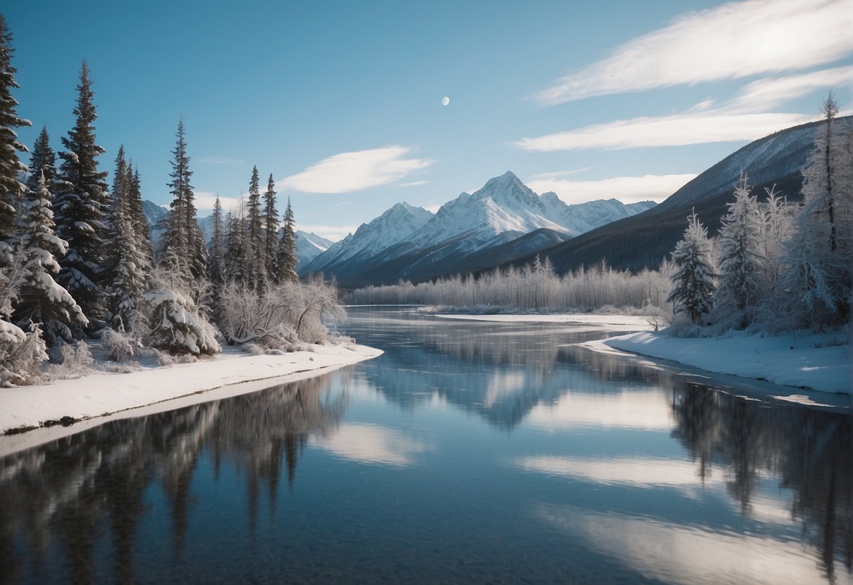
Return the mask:
<path id="1" fill-rule="evenodd" d="M 766 379 L 786 386 L 851 394 L 850 345 L 831 345 L 833 333 L 778 337 L 732 334 L 723 338 L 675 338 L 642 332 L 590 342 L 641 356 L 679 362 L 715 374 Z"/>

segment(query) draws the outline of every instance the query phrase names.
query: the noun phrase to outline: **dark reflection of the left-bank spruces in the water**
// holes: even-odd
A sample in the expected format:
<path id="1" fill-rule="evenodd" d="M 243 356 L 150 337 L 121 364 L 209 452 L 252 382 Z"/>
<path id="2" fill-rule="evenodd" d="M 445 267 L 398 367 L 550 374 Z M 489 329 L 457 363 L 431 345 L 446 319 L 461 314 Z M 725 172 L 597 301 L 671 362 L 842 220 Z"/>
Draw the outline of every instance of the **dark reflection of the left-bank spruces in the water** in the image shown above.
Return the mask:
<path id="1" fill-rule="evenodd" d="M 228 460 L 245 472 L 250 517 L 257 515 L 264 485 L 274 511 L 284 467 L 293 484 L 309 434 L 325 435 L 344 413 L 345 393 L 324 391 L 327 385 L 328 376 L 322 376 L 116 420 L 3 458 L 0 582 L 55 580 L 55 571 L 40 572 L 51 553 L 64 559 L 59 564 L 67 567 L 70 582 L 134 582 L 136 532 L 148 513 L 146 492 L 158 486 L 180 558 L 194 504 L 193 480 L 206 450 L 215 468 Z M 104 538 L 111 569 L 96 566 Z"/>

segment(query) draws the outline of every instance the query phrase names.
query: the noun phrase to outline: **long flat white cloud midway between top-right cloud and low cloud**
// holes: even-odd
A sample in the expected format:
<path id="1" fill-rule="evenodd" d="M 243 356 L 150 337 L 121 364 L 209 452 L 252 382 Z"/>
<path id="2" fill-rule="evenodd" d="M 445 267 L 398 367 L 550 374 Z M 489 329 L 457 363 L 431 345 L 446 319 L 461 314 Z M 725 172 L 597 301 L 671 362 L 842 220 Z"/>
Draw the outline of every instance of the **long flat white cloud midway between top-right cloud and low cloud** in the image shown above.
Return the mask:
<path id="1" fill-rule="evenodd" d="M 587 148 L 683 146 L 705 142 L 752 141 L 818 119 L 800 113 L 677 113 L 670 116 L 616 120 L 536 138 L 522 138 L 514 146 L 537 152 Z"/>

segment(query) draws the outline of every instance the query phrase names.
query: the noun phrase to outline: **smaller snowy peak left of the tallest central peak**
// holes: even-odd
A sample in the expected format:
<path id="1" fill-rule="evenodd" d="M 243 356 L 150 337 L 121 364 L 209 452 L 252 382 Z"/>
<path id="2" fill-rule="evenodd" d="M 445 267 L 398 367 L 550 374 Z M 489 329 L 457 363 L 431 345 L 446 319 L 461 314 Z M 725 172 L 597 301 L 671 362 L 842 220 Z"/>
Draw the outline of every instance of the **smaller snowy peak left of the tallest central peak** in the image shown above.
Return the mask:
<path id="1" fill-rule="evenodd" d="M 431 218 L 432 212 L 422 207 L 410 206 L 405 202 L 397 203 L 370 223 L 362 223 L 355 234 L 347 235 L 343 240 L 328 246 L 328 250 L 306 264 L 300 274 L 334 274 L 351 258 L 371 258 L 401 241 L 409 240 L 410 236 Z"/>

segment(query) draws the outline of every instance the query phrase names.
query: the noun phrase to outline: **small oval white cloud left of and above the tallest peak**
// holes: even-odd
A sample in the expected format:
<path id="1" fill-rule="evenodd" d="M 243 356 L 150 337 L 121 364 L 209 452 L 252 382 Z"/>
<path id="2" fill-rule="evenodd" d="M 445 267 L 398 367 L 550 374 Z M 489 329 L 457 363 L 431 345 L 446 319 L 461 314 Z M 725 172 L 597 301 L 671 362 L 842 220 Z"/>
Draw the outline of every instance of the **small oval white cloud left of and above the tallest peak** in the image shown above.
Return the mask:
<path id="1" fill-rule="evenodd" d="M 304 193 L 351 193 L 399 181 L 432 165 L 432 159 L 405 159 L 411 148 L 387 146 L 339 153 L 276 183 Z"/>

